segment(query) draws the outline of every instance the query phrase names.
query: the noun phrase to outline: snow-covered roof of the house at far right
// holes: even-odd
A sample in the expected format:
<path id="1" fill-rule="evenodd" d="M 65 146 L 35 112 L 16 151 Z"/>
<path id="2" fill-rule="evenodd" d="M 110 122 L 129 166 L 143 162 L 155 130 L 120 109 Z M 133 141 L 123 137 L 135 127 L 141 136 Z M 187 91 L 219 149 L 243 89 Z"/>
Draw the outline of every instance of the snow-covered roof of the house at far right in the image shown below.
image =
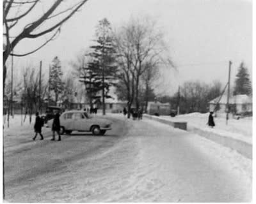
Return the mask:
<path id="1" fill-rule="evenodd" d="M 214 98 L 209 103 L 216 104 L 221 96 L 218 96 L 217 98 Z M 220 104 L 226 104 L 227 103 L 227 95 L 223 95 L 219 101 Z M 228 103 L 230 104 L 246 104 L 246 103 L 252 103 L 252 96 L 247 96 L 246 94 L 240 94 L 235 96 L 230 96 Z"/>

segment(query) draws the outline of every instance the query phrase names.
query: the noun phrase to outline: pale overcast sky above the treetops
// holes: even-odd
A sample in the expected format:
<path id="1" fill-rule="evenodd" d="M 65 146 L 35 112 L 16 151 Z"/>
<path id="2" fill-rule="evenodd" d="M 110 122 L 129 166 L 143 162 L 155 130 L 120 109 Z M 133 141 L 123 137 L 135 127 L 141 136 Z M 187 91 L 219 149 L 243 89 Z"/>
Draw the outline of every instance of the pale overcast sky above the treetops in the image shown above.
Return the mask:
<path id="1" fill-rule="evenodd" d="M 177 66 L 177 71 L 164 71 L 159 94 L 172 94 L 186 80 L 220 80 L 224 85 L 229 60 L 232 82 L 241 61 L 252 73 L 252 1 L 246 0 L 89 0 L 63 25 L 56 40 L 35 54 L 15 57 L 15 67 L 42 60 L 48 73 L 49 63 L 58 55 L 67 71 L 68 62 L 92 45 L 99 20 L 106 17 L 115 27 L 140 15 L 156 18 Z M 31 50 L 42 41 L 24 40 L 15 52 Z"/>

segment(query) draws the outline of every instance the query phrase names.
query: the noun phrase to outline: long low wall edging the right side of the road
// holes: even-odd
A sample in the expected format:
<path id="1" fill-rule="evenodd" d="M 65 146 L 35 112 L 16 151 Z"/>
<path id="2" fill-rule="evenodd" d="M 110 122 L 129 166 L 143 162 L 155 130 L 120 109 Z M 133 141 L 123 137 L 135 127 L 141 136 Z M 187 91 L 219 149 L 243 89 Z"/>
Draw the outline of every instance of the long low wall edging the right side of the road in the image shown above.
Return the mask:
<path id="1" fill-rule="evenodd" d="M 159 118 L 153 115 L 146 115 L 144 114 L 143 117 L 150 119 L 150 120 L 155 120 L 157 122 L 161 122 L 163 124 L 167 124 L 169 126 L 172 126 L 173 128 L 179 128 L 179 127 L 175 127 L 175 123 L 177 122 L 173 122 L 171 120 L 166 120 L 163 118 Z M 204 138 L 207 138 L 209 140 L 212 140 L 213 142 L 219 143 L 225 147 L 229 147 L 231 149 L 236 150 L 237 152 L 239 152 L 240 154 L 242 154 L 244 157 L 247 157 L 248 159 L 252 159 L 252 144 L 244 142 L 242 140 L 238 140 L 235 138 L 230 138 L 228 136 L 223 136 L 223 135 L 218 135 L 216 133 L 212 133 L 210 131 L 205 131 L 204 129 L 200 129 L 200 128 L 196 128 L 196 127 L 191 127 L 189 129 L 187 129 L 187 122 L 183 122 L 186 123 L 186 131 L 195 133 L 196 135 L 199 136 L 203 136 Z M 180 128 L 182 129 L 182 128 Z"/>

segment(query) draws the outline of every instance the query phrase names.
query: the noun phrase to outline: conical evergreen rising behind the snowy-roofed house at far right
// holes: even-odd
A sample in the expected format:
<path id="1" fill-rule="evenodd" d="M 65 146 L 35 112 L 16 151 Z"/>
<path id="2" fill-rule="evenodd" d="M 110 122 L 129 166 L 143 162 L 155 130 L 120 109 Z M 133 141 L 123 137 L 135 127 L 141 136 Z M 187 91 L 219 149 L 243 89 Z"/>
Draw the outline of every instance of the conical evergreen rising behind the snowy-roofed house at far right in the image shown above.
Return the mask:
<path id="1" fill-rule="evenodd" d="M 248 74 L 248 69 L 244 67 L 242 62 L 238 68 L 238 73 L 236 75 L 236 85 L 234 88 L 234 95 L 237 94 L 252 94 L 252 83 L 250 81 L 250 75 Z"/>

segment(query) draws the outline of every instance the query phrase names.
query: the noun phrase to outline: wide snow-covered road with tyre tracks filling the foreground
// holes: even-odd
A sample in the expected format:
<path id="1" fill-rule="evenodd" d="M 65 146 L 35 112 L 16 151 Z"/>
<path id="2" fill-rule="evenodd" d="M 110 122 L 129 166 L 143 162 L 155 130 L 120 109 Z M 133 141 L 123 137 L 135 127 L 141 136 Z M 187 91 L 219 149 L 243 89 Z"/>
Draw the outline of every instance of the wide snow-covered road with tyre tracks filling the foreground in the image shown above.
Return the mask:
<path id="1" fill-rule="evenodd" d="M 106 136 L 5 149 L 6 200 L 240 202 L 252 200 L 252 160 L 200 136 L 143 119 L 112 118 Z M 31 141 L 30 141 L 31 140 Z"/>

